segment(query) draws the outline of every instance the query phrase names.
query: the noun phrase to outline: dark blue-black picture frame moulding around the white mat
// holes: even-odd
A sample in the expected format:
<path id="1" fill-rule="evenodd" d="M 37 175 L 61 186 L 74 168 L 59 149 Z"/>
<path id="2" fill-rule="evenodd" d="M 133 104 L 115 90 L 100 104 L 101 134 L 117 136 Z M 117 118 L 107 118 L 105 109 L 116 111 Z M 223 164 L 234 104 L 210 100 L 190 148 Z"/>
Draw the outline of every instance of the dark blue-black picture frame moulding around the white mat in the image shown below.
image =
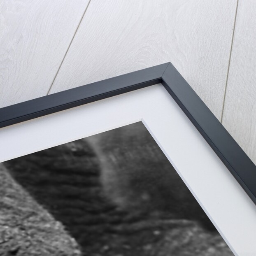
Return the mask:
<path id="1" fill-rule="evenodd" d="M 256 204 L 256 165 L 169 62 L 0 109 L 0 128 L 162 84 Z"/>

